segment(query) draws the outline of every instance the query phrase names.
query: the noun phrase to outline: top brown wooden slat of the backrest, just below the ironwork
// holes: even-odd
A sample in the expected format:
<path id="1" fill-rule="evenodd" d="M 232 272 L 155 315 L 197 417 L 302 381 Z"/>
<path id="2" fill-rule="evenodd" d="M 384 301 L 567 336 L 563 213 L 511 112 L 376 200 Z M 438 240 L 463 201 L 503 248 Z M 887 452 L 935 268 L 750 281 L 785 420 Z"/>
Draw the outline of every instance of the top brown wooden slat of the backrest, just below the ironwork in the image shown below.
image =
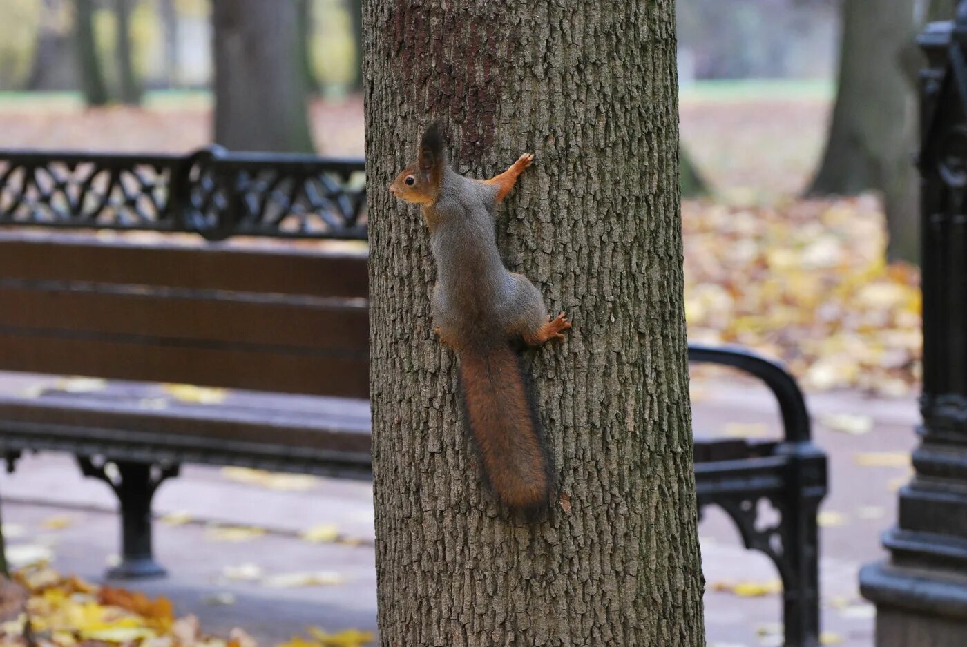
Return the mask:
<path id="1" fill-rule="evenodd" d="M 0 231 L 0 278 L 363 298 L 366 252 L 103 242 Z"/>

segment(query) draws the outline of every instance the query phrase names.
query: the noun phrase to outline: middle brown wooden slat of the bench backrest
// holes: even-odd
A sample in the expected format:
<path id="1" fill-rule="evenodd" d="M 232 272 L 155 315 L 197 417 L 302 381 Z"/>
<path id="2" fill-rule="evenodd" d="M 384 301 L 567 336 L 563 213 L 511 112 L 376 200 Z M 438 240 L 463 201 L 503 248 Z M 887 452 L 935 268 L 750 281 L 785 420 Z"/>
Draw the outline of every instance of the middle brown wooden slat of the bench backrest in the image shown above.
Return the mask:
<path id="1" fill-rule="evenodd" d="M 10 285 L 0 279 L 0 329 L 41 335 L 77 331 L 100 336 L 219 341 L 368 353 L 365 306 L 105 293 L 56 286 Z M 0 355 L 0 369 L 7 368 Z"/>

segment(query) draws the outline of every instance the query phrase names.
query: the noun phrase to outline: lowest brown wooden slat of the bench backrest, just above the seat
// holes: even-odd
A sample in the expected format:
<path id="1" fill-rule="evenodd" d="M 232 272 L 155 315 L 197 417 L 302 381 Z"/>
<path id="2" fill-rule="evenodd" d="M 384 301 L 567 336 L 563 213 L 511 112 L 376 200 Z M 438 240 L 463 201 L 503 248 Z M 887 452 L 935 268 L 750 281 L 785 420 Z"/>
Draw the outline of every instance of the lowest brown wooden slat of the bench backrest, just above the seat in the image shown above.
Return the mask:
<path id="1" fill-rule="evenodd" d="M 320 396 L 369 395 L 369 362 L 361 354 L 296 354 L 272 347 L 0 330 L 0 358 L 7 370 Z"/>

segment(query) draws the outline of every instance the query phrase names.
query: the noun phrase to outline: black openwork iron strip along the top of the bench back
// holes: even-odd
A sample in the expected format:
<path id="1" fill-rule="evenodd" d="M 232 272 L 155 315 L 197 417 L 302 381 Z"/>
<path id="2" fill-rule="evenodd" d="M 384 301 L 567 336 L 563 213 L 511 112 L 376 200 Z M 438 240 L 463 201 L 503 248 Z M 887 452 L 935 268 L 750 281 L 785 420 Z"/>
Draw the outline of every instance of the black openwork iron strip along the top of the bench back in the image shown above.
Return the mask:
<path id="1" fill-rule="evenodd" d="M 362 160 L 0 151 L 0 224 L 366 239 Z"/>

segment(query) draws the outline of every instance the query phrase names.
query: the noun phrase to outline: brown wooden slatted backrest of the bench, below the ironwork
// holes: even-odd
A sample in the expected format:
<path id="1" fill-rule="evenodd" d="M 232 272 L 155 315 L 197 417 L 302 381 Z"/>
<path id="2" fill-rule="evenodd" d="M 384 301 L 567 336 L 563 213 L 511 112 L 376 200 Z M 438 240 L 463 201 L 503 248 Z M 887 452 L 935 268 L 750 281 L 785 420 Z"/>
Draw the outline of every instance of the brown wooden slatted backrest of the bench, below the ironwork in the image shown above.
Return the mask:
<path id="1" fill-rule="evenodd" d="M 0 370 L 368 397 L 366 251 L 326 245 L 0 231 Z"/>

